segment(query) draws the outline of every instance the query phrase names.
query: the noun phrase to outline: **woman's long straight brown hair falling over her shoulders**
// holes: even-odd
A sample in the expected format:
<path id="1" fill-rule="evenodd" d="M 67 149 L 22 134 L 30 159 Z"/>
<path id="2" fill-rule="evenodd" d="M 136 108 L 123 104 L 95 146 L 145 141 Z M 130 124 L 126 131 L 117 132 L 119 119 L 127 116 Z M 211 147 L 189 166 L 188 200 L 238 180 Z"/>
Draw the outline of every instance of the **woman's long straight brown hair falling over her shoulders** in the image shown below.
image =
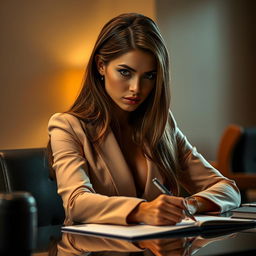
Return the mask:
<path id="1" fill-rule="evenodd" d="M 67 111 L 96 128 L 94 143 L 106 135 L 115 119 L 112 100 L 104 89 L 97 69 L 96 56 L 104 64 L 140 49 L 152 53 L 157 61 L 156 85 L 148 98 L 131 113 L 133 141 L 159 168 L 166 185 L 178 194 L 177 150 L 173 138 L 170 109 L 169 54 L 155 22 L 141 14 L 126 13 L 111 19 L 102 28 L 91 53 L 81 92 Z"/>

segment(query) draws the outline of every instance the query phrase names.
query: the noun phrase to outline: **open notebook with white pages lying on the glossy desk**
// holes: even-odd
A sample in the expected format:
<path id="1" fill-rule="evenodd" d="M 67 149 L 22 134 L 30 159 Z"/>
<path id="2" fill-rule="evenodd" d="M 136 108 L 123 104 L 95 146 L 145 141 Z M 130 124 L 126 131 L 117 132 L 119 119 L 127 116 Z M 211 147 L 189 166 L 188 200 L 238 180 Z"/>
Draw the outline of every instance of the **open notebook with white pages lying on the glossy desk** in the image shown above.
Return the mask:
<path id="1" fill-rule="evenodd" d="M 136 241 L 163 236 L 201 234 L 202 232 L 208 234 L 228 230 L 235 232 L 236 230 L 256 227 L 256 220 L 218 216 L 196 216 L 196 219 L 197 222 L 185 219 L 174 226 L 81 224 L 63 226 L 62 231 Z"/>

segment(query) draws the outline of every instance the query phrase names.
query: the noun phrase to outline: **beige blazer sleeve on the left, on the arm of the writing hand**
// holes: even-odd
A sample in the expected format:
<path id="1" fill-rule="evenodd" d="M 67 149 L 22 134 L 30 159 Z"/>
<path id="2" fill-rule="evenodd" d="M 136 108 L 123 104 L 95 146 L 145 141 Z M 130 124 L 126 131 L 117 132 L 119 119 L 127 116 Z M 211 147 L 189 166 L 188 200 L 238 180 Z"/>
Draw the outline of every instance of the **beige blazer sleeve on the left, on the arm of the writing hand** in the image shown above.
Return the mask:
<path id="1" fill-rule="evenodd" d="M 57 113 L 49 120 L 48 131 L 58 193 L 66 213 L 65 224 L 127 224 L 128 214 L 143 200 L 105 196 L 94 191 L 85 153 L 89 141 L 80 121 L 70 114 Z"/>

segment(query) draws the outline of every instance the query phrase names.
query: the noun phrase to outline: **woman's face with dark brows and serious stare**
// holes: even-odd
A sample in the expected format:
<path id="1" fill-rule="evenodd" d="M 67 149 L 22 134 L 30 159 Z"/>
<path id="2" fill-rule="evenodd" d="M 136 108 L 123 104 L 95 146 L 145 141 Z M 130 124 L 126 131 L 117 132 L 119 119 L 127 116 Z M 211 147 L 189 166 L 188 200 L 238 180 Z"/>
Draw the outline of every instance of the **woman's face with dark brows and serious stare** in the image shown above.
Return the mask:
<path id="1" fill-rule="evenodd" d="M 155 86 L 157 64 L 151 53 L 132 50 L 106 65 L 100 60 L 97 64 L 107 94 L 124 111 L 137 109 Z"/>

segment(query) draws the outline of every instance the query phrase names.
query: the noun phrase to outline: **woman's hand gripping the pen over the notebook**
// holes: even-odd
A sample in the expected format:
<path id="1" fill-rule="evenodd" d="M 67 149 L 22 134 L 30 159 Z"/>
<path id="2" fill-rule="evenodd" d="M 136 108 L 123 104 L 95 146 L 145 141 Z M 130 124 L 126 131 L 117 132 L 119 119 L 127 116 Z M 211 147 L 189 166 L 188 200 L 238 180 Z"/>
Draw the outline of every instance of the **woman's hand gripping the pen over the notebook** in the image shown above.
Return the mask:
<path id="1" fill-rule="evenodd" d="M 184 198 L 162 194 L 151 202 L 140 203 L 127 218 L 128 223 L 174 225 L 185 218 Z"/>

